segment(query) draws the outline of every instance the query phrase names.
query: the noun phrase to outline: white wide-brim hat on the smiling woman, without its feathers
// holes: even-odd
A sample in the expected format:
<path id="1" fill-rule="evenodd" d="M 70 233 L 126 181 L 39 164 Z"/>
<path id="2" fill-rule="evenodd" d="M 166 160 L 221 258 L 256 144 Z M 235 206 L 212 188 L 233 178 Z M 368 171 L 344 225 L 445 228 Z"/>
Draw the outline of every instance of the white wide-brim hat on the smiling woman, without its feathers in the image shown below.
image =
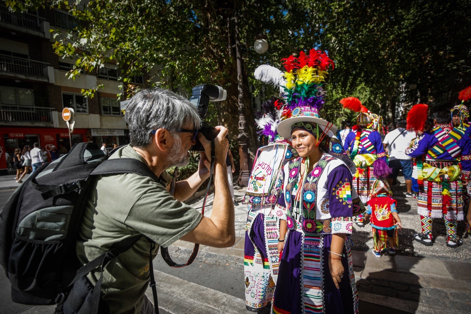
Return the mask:
<path id="1" fill-rule="evenodd" d="M 337 132 L 337 127 L 327 120 L 319 117 L 317 108 L 309 106 L 296 107 L 292 111 L 292 116 L 281 121 L 276 127 L 278 134 L 289 140 L 291 138 L 291 127 L 298 122 L 313 122 L 317 123 L 323 132 L 332 137 Z"/>

